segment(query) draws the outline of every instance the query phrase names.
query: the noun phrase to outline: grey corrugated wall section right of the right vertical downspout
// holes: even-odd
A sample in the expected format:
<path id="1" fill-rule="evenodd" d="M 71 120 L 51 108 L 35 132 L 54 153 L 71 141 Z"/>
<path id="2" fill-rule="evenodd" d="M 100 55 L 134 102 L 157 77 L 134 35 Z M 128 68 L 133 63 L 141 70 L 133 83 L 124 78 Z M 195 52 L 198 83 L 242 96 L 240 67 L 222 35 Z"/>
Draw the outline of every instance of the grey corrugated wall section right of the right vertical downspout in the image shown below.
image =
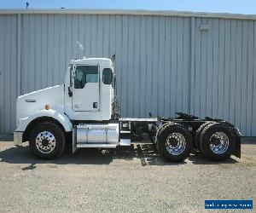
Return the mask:
<path id="1" fill-rule="evenodd" d="M 210 29 L 200 31 L 201 24 Z M 256 136 L 256 21 L 195 19 L 190 112 Z"/>

